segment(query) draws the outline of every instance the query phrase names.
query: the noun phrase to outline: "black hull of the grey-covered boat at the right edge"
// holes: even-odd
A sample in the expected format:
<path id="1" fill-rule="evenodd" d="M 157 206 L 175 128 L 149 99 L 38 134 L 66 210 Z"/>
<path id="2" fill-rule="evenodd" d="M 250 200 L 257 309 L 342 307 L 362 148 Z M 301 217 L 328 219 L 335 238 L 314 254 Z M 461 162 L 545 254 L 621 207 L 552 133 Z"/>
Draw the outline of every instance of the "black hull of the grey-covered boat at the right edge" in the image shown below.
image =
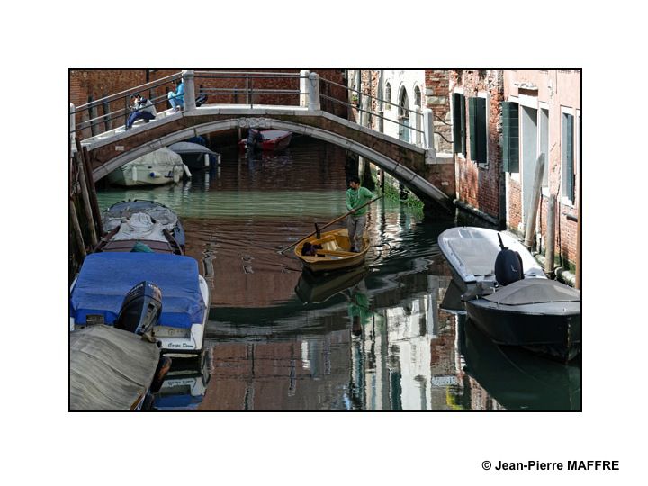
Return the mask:
<path id="1" fill-rule="evenodd" d="M 465 306 L 475 326 L 499 345 L 527 347 L 563 363 L 581 353 L 581 302 L 506 306 L 475 299 Z"/>

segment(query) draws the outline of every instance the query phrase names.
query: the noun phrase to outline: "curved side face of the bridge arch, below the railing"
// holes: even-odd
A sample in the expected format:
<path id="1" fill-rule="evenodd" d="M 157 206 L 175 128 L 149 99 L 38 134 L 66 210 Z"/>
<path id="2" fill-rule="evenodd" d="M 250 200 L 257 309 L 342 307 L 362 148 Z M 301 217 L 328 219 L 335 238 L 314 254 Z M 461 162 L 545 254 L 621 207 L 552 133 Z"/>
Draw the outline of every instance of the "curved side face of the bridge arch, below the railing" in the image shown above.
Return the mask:
<path id="1" fill-rule="evenodd" d="M 337 124 L 340 125 L 339 123 Z M 249 127 L 292 131 L 293 133 L 307 135 L 314 139 L 321 139 L 339 147 L 347 148 L 357 155 L 370 160 L 375 166 L 381 167 L 385 172 L 395 177 L 410 189 L 412 193 L 415 193 L 426 204 L 428 209 L 445 213 L 451 207 L 450 199 L 446 193 L 443 193 L 435 185 L 428 182 L 426 178 L 428 166 L 425 163 L 424 150 L 419 149 L 420 152 L 417 152 L 403 148 L 398 144 L 392 144 L 384 139 L 377 139 L 360 130 L 356 130 L 356 133 L 349 133 L 348 130 L 353 129 L 349 129 L 348 127 L 347 133 L 340 133 L 338 132 L 338 127 L 336 127 L 338 130 L 332 131 L 299 121 L 280 120 L 276 118 L 237 117 L 218 121 L 206 121 L 199 124 L 192 124 L 191 126 L 175 127 L 175 130 L 167 133 L 160 133 L 159 130 L 155 130 L 157 133 L 153 133 L 153 130 L 150 130 L 149 137 L 146 136 L 148 130 L 142 131 L 139 133 L 137 140 L 133 140 L 134 143 L 128 143 L 127 140 L 123 140 L 122 147 L 124 147 L 124 151 L 117 157 L 104 158 L 105 162 L 101 162 L 94 157 L 100 155 L 99 152 L 102 152 L 101 148 L 94 148 L 91 151 L 94 180 L 98 181 L 123 164 L 158 148 L 167 147 L 175 142 L 208 133 L 238 128 L 247 129 Z M 340 128 L 344 129 L 345 127 L 341 126 Z M 352 134 L 354 139 L 345 136 L 349 134 Z M 362 139 L 366 143 L 362 143 L 358 139 Z M 369 144 L 372 146 L 370 147 Z M 394 150 L 402 156 L 399 158 L 404 159 L 404 162 L 398 162 L 394 158 L 385 155 L 385 153 L 390 153 Z"/>

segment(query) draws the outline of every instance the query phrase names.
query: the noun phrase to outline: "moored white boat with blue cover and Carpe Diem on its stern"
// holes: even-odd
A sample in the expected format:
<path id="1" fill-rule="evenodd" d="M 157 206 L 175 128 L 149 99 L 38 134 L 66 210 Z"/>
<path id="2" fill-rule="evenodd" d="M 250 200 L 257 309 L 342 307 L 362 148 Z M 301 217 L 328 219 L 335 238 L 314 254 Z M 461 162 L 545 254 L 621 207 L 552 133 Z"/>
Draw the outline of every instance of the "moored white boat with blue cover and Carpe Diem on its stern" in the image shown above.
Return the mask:
<path id="1" fill-rule="evenodd" d="M 70 289 L 70 330 L 113 325 L 124 296 L 141 281 L 161 291 L 153 337 L 170 356 L 200 355 L 209 314 L 209 288 L 191 257 L 165 253 L 94 253 Z"/>

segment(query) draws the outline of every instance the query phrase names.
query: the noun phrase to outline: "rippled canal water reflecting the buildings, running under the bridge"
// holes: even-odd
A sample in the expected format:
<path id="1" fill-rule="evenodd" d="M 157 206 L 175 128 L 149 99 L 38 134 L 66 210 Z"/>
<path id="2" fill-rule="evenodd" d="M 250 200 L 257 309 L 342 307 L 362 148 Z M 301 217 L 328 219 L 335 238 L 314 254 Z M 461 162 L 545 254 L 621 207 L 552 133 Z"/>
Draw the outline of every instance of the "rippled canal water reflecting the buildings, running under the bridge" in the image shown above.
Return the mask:
<path id="1" fill-rule="evenodd" d="M 347 211 L 345 150 L 221 155 L 190 182 L 98 194 L 175 210 L 211 288 L 207 352 L 174 360 L 157 410 L 581 410 L 580 364 L 497 347 L 459 311 L 437 246 L 452 221 L 382 199 L 366 266 L 302 275 L 280 251 Z"/>

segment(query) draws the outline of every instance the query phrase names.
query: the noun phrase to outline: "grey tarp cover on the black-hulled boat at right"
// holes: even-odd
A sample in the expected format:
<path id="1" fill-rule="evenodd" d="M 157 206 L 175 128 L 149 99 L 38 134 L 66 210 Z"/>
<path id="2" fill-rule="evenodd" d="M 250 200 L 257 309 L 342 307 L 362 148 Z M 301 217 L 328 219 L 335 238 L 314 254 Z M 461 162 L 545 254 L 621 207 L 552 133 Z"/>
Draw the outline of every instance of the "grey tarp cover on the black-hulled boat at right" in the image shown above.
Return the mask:
<path id="1" fill-rule="evenodd" d="M 546 278 L 528 278 L 500 288 L 483 297 L 504 305 L 524 305 L 540 302 L 580 302 L 581 291 Z"/>

